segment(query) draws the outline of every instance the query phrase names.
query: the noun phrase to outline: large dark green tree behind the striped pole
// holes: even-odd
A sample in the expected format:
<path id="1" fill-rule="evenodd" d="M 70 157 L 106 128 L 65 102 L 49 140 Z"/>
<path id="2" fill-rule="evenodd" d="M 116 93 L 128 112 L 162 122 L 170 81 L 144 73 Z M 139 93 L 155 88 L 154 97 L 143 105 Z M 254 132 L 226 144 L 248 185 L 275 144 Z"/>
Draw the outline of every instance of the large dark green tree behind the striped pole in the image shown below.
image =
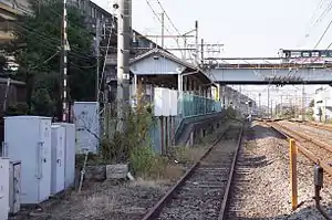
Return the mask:
<path id="1" fill-rule="evenodd" d="M 15 22 L 15 40 L 7 52 L 20 65 L 17 80 L 27 82 L 27 103 L 30 112 L 54 115 L 60 104 L 62 1 L 30 2 L 33 15 L 25 14 Z M 68 74 L 71 101 L 89 101 L 95 94 L 95 57 L 93 39 L 85 29 L 84 15 L 74 7 L 68 9 L 69 52 Z"/>

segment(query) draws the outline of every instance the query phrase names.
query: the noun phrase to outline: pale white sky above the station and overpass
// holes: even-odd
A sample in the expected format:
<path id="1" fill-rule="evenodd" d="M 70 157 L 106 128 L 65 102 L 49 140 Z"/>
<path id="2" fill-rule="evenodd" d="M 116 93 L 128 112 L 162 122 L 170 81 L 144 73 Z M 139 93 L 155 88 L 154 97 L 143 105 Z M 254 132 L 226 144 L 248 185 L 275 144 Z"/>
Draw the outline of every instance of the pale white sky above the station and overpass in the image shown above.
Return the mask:
<path id="1" fill-rule="evenodd" d="M 115 0 L 93 1 L 113 12 Z M 312 50 L 332 19 L 332 0 L 133 0 L 133 28 L 149 35 L 160 34 L 162 24 L 147 1 L 156 13 L 162 13 L 159 1 L 181 34 L 193 30 L 198 20 L 199 39 L 225 44 L 221 53 L 215 54 L 222 57 L 277 56 L 279 49 Z M 170 32 L 166 34 L 177 34 L 167 17 L 165 25 Z M 332 28 L 317 49 L 326 49 L 331 39 Z M 168 48 L 177 45 L 174 39 L 165 42 Z M 243 90 L 263 92 L 266 86 Z M 307 86 L 307 91 L 311 94 L 313 87 Z"/>

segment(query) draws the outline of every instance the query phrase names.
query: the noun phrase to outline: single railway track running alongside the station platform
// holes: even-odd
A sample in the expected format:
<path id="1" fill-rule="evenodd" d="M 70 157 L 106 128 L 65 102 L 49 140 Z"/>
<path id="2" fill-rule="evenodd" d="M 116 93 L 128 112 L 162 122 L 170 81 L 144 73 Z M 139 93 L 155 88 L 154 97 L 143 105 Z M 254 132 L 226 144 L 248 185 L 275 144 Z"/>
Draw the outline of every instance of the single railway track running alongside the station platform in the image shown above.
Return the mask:
<path id="1" fill-rule="evenodd" d="M 222 220 L 243 126 L 230 126 L 143 220 Z"/>

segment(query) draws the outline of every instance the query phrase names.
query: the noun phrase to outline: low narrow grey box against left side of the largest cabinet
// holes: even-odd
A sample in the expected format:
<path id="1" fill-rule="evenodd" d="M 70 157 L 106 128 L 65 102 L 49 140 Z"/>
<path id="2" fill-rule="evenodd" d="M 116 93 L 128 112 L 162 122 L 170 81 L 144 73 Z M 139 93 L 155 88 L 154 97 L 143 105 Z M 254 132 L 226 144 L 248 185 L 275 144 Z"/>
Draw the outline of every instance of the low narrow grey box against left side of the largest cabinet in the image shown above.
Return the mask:
<path id="1" fill-rule="evenodd" d="M 15 214 L 21 208 L 21 161 L 10 161 L 9 167 L 9 212 Z"/>

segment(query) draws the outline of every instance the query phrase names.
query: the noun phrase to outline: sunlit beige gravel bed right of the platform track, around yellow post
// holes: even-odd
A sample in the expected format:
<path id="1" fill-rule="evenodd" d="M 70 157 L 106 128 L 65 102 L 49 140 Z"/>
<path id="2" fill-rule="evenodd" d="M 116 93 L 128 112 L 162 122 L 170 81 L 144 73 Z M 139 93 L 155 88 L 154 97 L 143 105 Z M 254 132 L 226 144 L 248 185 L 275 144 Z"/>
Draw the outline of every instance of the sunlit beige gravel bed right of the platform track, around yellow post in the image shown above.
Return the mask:
<path id="1" fill-rule="evenodd" d="M 313 165 L 298 156 L 299 203 L 302 205 L 291 211 L 288 143 L 260 123 L 253 123 L 245 135 L 226 219 L 324 219 L 313 206 Z M 321 196 L 324 209 L 332 217 L 331 182 L 326 177 Z"/>

